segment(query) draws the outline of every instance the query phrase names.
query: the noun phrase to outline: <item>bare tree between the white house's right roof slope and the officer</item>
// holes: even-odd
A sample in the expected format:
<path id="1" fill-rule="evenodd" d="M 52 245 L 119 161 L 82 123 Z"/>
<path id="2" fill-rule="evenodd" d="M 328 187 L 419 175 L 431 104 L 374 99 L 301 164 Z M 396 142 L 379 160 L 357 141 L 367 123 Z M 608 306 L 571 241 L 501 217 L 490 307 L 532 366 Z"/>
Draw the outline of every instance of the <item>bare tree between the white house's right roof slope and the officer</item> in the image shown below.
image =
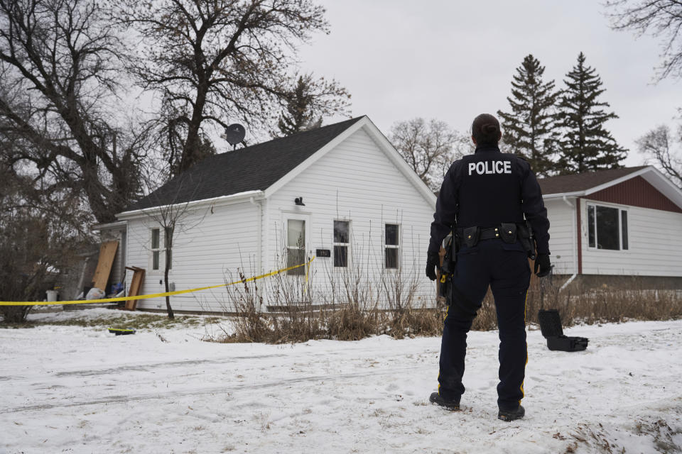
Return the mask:
<path id="1" fill-rule="evenodd" d="M 435 118 L 428 122 L 413 118 L 394 123 L 389 140 L 434 192 L 440 189 L 450 164 L 470 148 L 468 138 Z"/>

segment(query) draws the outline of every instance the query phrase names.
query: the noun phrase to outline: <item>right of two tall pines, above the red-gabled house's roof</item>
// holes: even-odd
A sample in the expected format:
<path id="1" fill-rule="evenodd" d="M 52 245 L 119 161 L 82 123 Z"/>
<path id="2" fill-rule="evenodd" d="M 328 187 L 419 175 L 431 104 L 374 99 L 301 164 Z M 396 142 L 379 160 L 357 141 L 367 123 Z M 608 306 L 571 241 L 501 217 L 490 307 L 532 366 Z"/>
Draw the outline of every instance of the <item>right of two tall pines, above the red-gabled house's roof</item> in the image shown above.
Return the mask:
<path id="1" fill-rule="evenodd" d="M 596 71 L 585 66 L 583 52 L 578 55 L 578 65 L 566 77 L 563 81 L 566 89 L 559 102 L 559 126 L 563 128 L 560 172 L 565 175 L 622 167 L 620 162 L 627 150 L 604 127 L 604 123 L 618 116 L 604 110 L 610 104 L 597 100 L 606 90 Z"/>

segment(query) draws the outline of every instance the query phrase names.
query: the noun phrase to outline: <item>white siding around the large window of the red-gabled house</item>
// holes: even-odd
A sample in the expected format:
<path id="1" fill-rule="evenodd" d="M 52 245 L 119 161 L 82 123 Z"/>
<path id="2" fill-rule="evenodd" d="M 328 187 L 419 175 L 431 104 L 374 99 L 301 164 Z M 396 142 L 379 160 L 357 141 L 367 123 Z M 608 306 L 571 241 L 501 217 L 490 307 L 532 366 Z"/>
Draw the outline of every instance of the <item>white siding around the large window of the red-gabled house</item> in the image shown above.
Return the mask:
<path id="1" fill-rule="evenodd" d="M 628 250 L 589 248 L 589 203 L 627 209 Z M 682 214 L 587 199 L 580 209 L 584 274 L 682 276 Z"/>

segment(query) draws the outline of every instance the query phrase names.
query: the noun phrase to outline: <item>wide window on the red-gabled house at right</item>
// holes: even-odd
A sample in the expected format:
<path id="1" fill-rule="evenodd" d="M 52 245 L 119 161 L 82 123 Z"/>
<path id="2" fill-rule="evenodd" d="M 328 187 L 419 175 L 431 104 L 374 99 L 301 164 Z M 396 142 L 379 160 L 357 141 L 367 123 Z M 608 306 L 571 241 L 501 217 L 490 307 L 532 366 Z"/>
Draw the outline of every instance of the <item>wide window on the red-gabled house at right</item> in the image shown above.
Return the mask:
<path id="1" fill-rule="evenodd" d="M 627 250 L 627 211 L 588 205 L 588 245 L 596 249 Z"/>

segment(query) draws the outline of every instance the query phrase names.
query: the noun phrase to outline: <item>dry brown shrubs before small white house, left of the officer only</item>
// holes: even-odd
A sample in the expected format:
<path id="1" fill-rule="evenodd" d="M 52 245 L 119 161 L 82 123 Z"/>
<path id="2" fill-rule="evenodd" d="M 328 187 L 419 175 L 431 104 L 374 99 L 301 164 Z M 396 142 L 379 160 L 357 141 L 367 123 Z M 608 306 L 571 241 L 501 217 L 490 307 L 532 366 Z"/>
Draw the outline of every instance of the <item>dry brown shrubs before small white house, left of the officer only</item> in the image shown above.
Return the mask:
<path id="1" fill-rule="evenodd" d="M 285 255 L 281 256 L 283 261 Z M 282 267 L 284 264 L 282 263 Z M 234 314 L 234 333 L 224 333 L 224 342 L 304 342 L 308 339 L 355 341 L 389 334 L 433 336 L 443 331 L 443 306 L 415 307 L 416 277 L 404 279 L 401 270 L 382 272 L 375 285 L 367 262 L 354 262 L 346 270 L 323 270 L 331 292 L 315 294 L 315 276 L 274 275 L 266 282 L 271 305 L 266 311 L 256 282 L 227 287 L 223 304 Z M 251 273 L 249 273 L 251 274 Z M 226 277 L 227 282 L 232 281 Z M 313 301 L 319 301 L 313 304 Z"/>

